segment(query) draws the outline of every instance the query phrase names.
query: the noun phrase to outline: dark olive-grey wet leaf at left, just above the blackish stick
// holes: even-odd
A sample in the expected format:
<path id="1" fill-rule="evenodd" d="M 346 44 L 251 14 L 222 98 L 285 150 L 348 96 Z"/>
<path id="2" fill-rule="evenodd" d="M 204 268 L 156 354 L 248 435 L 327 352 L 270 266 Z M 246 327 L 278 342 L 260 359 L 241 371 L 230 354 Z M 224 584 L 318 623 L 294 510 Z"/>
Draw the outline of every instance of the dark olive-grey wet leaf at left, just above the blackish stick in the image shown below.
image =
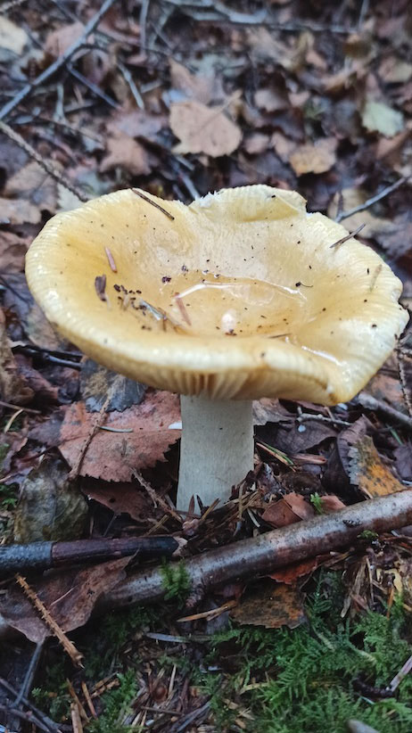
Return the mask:
<path id="1" fill-rule="evenodd" d="M 67 479 L 62 460 L 45 458 L 21 485 L 14 519 L 19 543 L 78 539 L 87 523 L 87 502 Z"/>

